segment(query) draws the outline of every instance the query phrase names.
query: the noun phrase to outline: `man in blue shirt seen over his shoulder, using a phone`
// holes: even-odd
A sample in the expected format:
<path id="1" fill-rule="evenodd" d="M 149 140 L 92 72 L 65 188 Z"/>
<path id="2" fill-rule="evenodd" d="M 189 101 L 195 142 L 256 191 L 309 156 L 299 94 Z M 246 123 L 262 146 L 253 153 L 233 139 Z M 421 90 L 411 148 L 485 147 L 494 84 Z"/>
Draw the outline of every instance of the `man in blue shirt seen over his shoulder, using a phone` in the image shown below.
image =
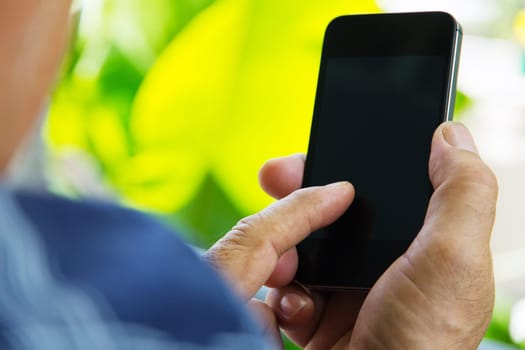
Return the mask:
<path id="1" fill-rule="evenodd" d="M 4 168 L 49 94 L 67 37 L 69 6 L 69 0 L 0 4 L 0 166 Z M 126 325 L 124 333 L 104 333 L 109 334 L 107 339 L 119 335 L 121 341 L 134 339 L 137 333 L 132 330 L 140 328 L 141 339 L 147 333 L 145 338 L 151 341 L 152 332 L 162 332 L 180 348 L 268 346 L 259 342 L 260 331 L 241 305 L 244 300 L 264 320 L 268 333 L 277 336 L 281 327 L 310 349 L 475 349 L 493 308 L 489 240 L 497 184 L 468 130 L 456 123 L 436 130 L 429 161 L 435 192 L 424 226 L 367 295 L 306 292 L 291 283 L 297 267 L 295 245 L 337 219 L 354 197 L 352 185 L 345 182 L 299 189 L 303 166 L 302 156 L 269 161 L 260 182 L 278 201 L 241 220 L 205 254 L 237 297 L 166 229 L 110 205 L 3 191 L 0 222 L 5 225 L 0 226 L 0 233 L 4 227 L 0 237 L 8 244 L 17 232 L 25 232 L 28 241 L 41 240 L 49 258 L 39 261 L 56 275 L 42 282 L 48 286 L 45 290 L 62 291 L 60 295 L 68 297 L 61 303 L 101 299 L 85 301 L 82 310 L 97 314 L 93 316 L 97 325 L 115 320 Z M 12 217 L 17 220 L 11 222 Z M 12 247 L 16 250 L 17 245 Z M 6 266 L 23 266 L 23 260 L 11 259 L 16 263 Z M 17 276 L 11 277 L 16 281 Z M 273 288 L 266 302 L 252 300 L 263 285 Z M 0 307 L 0 341 L 23 342 L 27 337 L 20 335 L 34 335 L 35 329 L 57 319 L 60 329 L 76 332 L 53 328 L 48 336 L 59 334 L 62 337 L 55 338 L 63 340 L 73 334 L 72 339 L 77 339 L 90 329 L 89 322 L 71 327 L 72 309 L 61 308 L 53 293 L 48 296 L 45 303 L 19 300 L 20 305 L 33 306 L 20 312 L 9 307 L 9 300 L 16 298 L 0 303 L 5 306 Z M 111 310 L 110 316 L 100 311 L 101 304 Z M 53 311 L 49 319 L 42 316 L 48 309 Z M 29 322 L 25 324 L 31 327 L 16 323 L 24 312 Z M 38 346 L 38 342 L 30 344 Z M 83 343 L 73 344 L 82 348 Z"/>

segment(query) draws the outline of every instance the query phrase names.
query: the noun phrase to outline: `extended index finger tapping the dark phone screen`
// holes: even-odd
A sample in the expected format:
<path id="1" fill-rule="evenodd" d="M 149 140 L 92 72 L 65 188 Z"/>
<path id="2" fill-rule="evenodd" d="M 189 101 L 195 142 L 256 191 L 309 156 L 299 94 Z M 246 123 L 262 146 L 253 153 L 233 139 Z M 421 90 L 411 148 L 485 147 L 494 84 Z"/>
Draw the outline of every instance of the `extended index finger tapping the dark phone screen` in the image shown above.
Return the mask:
<path id="1" fill-rule="evenodd" d="M 279 258 L 311 232 L 341 216 L 354 197 L 348 182 L 303 188 L 258 214 L 242 219 L 205 257 L 251 298 L 271 276 Z"/>

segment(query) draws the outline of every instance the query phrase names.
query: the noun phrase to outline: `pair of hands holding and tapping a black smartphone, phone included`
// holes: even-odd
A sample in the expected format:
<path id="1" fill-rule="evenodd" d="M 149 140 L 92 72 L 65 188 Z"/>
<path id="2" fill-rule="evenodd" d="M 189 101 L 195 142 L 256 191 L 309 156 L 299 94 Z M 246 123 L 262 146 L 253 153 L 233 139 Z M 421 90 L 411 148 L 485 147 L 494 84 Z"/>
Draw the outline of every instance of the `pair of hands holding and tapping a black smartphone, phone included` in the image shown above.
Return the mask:
<path id="1" fill-rule="evenodd" d="M 460 43 L 445 13 L 328 26 L 308 158 L 269 161 L 261 185 L 279 201 L 207 254 L 246 299 L 274 288 L 250 303 L 277 338 L 280 326 L 312 349 L 477 348 L 497 183 L 468 130 L 439 125 Z M 326 185 L 339 180 L 355 189 Z"/>

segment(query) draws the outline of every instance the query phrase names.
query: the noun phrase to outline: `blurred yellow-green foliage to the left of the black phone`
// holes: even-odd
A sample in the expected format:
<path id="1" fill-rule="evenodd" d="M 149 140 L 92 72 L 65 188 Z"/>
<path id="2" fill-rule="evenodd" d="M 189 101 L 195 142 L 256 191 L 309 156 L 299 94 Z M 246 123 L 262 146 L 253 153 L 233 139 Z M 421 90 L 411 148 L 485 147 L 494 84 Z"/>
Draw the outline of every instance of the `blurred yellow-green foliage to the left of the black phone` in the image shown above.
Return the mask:
<path id="1" fill-rule="evenodd" d="M 87 152 L 121 201 L 207 246 L 271 201 L 257 183 L 265 160 L 306 150 L 327 23 L 375 11 L 371 0 L 85 2 L 46 129 L 53 154 Z"/>

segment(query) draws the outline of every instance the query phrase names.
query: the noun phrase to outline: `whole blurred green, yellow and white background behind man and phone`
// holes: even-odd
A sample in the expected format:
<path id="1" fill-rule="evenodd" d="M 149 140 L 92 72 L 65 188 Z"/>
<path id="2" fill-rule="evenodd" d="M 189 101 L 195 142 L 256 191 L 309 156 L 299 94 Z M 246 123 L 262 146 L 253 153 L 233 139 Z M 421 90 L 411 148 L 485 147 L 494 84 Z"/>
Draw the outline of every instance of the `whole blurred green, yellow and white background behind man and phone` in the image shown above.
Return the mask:
<path id="1" fill-rule="evenodd" d="M 271 199 L 265 160 L 305 152 L 324 28 L 445 10 L 464 29 L 455 118 L 500 183 L 490 339 L 525 348 L 525 1 L 84 0 L 15 186 L 148 211 L 206 248 Z"/>

